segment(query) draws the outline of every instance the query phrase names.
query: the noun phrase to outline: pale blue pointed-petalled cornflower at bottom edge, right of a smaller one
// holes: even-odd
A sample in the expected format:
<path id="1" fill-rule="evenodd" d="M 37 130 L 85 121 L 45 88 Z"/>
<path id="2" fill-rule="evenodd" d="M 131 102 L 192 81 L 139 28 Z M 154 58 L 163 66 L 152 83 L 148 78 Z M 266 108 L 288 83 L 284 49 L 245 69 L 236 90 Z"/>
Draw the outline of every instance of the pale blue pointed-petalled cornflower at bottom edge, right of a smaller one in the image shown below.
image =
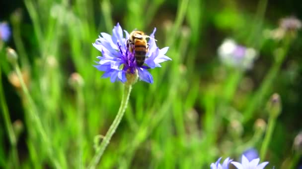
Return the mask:
<path id="1" fill-rule="evenodd" d="M 264 169 L 264 167 L 268 164 L 268 162 L 263 162 L 261 164 L 259 164 L 259 162 L 259 158 L 249 162 L 247 158 L 242 155 L 241 163 L 231 162 L 231 164 L 234 165 L 237 169 Z"/>

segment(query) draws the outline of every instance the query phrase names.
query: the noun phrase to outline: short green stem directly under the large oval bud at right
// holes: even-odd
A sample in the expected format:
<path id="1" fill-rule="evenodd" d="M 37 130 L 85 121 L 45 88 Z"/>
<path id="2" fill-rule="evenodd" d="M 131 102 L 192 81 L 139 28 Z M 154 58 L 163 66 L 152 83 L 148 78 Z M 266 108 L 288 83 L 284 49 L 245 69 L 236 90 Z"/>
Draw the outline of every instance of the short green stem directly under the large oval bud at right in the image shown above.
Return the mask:
<path id="1" fill-rule="evenodd" d="M 260 159 L 261 160 L 265 159 L 267 148 L 268 148 L 269 143 L 271 141 L 275 125 L 276 125 L 276 118 L 270 116 L 270 118 L 268 120 L 267 132 L 265 134 L 265 137 L 264 137 L 264 140 L 263 140 L 263 143 L 262 143 L 262 147 L 261 147 L 261 150 L 260 150 Z"/>

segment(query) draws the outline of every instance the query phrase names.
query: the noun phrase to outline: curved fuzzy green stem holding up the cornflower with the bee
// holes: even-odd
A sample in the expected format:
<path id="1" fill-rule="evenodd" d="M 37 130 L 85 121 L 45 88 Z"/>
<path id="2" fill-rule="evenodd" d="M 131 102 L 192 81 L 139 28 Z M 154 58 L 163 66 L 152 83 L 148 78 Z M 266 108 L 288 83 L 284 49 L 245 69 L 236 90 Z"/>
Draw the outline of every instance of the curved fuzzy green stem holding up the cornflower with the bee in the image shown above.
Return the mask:
<path id="1" fill-rule="evenodd" d="M 107 131 L 106 135 L 104 136 L 101 145 L 96 149 L 96 153 L 93 156 L 88 169 L 94 169 L 96 167 L 96 165 L 98 164 L 106 147 L 108 146 L 112 135 L 114 134 L 116 128 L 119 126 L 119 124 L 124 116 L 127 104 L 128 104 L 131 89 L 132 89 L 132 85 L 127 85 L 127 84 L 124 85 L 124 93 L 123 93 L 119 111 L 118 111 L 112 125 L 109 127 L 109 130 Z"/>

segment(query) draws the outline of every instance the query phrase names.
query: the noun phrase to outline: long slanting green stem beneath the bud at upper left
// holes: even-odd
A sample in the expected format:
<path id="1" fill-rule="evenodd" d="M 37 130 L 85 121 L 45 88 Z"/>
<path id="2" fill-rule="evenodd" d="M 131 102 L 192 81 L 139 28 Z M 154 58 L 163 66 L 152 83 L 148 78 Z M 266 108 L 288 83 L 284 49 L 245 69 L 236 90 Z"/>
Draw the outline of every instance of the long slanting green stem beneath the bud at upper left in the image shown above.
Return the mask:
<path id="1" fill-rule="evenodd" d="M 60 164 L 59 164 L 58 161 L 54 158 L 55 156 L 53 155 L 53 150 L 52 150 L 51 144 L 50 144 L 49 139 L 48 139 L 48 137 L 47 137 L 47 135 L 46 135 L 46 133 L 45 133 L 45 130 L 44 130 L 43 126 L 42 126 L 42 123 L 41 123 L 41 121 L 40 121 L 40 118 L 39 118 L 39 116 L 38 116 L 38 114 L 37 114 L 37 112 L 38 112 L 38 111 L 37 111 L 37 108 L 36 108 L 36 106 L 35 106 L 35 104 L 34 104 L 32 98 L 31 98 L 31 96 L 30 96 L 30 94 L 29 94 L 29 91 L 28 91 L 28 89 L 27 89 L 25 83 L 24 83 L 24 80 L 23 80 L 23 78 L 22 78 L 22 74 L 21 74 L 21 71 L 20 71 L 20 67 L 19 67 L 18 64 L 15 64 L 14 67 L 15 67 L 15 71 L 16 71 L 16 74 L 17 74 L 17 76 L 18 76 L 18 79 L 19 79 L 19 81 L 20 81 L 22 90 L 23 90 L 23 92 L 24 92 L 25 98 L 26 98 L 26 99 L 28 100 L 28 102 L 29 102 L 30 110 L 29 110 L 28 112 L 30 113 L 31 118 L 32 118 L 33 122 L 34 122 L 35 125 L 36 125 L 37 131 L 38 131 L 39 134 L 41 135 L 41 140 L 42 140 L 43 144 L 44 144 L 44 145 L 46 146 L 46 148 L 47 148 L 47 153 L 48 153 L 48 155 L 49 155 L 49 158 L 50 158 L 51 162 L 53 163 L 53 165 L 54 165 L 54 167 L 55 167 L 56 169 L 61 169 Z"/>

